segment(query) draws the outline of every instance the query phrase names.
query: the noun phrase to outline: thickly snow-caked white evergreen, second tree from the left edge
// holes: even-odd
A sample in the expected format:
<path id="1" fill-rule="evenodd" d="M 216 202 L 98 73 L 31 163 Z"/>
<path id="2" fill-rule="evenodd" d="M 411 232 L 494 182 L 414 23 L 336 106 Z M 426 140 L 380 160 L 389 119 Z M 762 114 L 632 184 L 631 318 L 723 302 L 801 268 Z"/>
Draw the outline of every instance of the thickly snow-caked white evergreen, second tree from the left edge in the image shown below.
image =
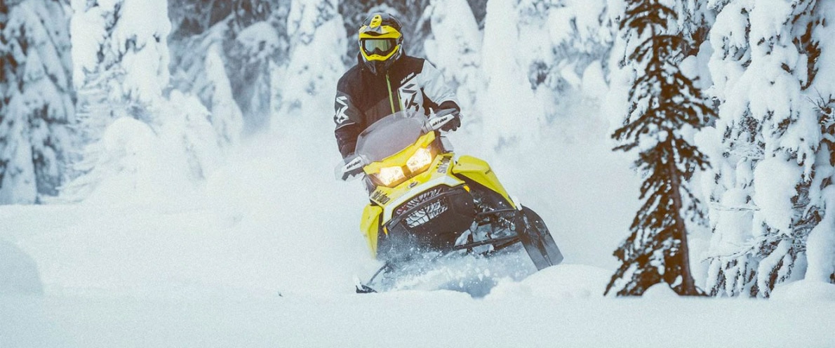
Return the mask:
<path id="1" fill-rule="evenodd" d="M 155 177 L 180 173 L 158 158 L 173 157 L 194 145 L 180 144 L 188 141 L 184 134 L 179 135 L 185 142 L 156 143 L 164 136 L 177 139 L 170 129 L 184 117 L 168 113 L 170 103 L 164 95 L 170 81 L 168 3 L 73 1 L 73 10 L 73 78 L 84 146 L 62 198 L 87 199 L 103 183 L 111 183 L 105 185 L 111 189 L 120 186 L 126 194 L 154 190 L 159 184 Z M 159 152 L 158 146 L 166 151 Z M 160 167 L 166 173 L 159 173 Z"/>

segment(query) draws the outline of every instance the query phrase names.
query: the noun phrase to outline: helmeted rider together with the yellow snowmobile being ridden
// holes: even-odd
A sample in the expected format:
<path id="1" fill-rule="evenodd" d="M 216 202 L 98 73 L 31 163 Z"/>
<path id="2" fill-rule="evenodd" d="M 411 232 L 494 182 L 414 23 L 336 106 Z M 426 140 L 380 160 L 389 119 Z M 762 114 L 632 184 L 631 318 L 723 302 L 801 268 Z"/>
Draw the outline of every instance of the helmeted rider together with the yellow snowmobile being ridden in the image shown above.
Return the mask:
<path id="1" fill-rule="evenodd" d="M 387 13 L 362 23 L 357 65 L 340 78 L 334 104 L 343 157 L 335 174 L 365 178 L 360 230 L 385 261 L 367 284 L 357 280 L 357 292 L 392 289 L 388 280 L 415 260 L 497 255 L 515 245 L 537 270 L 559 264 L 539 215 L 511 199 L 486 162 L 445 144 L 441 131 L 458 129 L 460 108 L 437 68 L 403 53 L 400 30 Z M 374 283 L 381 272 L 385 280 Z"/>

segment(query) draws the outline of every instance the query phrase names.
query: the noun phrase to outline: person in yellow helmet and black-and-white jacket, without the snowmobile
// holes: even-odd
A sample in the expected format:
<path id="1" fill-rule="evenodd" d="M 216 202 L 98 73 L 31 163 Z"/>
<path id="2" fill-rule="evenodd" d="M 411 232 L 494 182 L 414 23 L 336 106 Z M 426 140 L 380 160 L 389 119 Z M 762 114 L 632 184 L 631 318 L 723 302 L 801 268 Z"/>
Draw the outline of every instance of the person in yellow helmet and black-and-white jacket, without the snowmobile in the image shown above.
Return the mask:
<path id="1" fill-rule="evenodd" d="M 453 109 L 455 118 L 441 130 L 461 125 L 458 102 L 437 68 L 403 52 L 401 24 L 388 13 L 372 13 L 359 30 L 357 65 L 337 84 L 334 133 L 342 158 L 352 154 L 362 130 L 389 114 L 412 109 L 429 114 Z"/>

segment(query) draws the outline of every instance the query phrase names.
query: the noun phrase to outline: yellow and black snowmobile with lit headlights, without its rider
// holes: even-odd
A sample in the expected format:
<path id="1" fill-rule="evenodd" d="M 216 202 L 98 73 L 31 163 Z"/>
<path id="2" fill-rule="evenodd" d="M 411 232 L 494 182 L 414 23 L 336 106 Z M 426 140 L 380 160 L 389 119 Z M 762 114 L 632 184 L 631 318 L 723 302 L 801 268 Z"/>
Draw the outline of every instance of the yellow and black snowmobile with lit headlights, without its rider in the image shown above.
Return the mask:
<path id="1" fill-rule="evenodd" d="M 385 265 L 367 284 L 417 255 L 491 255 L 521 244 L 537 270 L 563 260 L 543 220 L 510 198 L 486 162 L 448 150 L 439 129 L 453 117 L 392 113 L 337 165 L 338 179 L 363 177 L 370 192 L 360 229 Z M 357 292 L 376 291 L 357 282 Z"/>

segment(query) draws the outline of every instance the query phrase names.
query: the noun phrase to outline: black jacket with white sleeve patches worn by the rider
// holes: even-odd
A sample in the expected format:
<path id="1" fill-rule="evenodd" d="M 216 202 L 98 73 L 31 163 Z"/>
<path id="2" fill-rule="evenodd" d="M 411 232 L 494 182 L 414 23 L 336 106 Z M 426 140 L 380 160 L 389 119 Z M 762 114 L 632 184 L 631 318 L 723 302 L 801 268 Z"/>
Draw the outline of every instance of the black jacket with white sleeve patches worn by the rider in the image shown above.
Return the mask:
<path id="1" fill-rule="evenodd" d="M 380 75 L 373 74 L 359 57 L 357 60 L 339 79 L 334 103 L 334 133 L 343 158 L 354 152 L 362 130 L 392 113 L 406 108 L 425 114 L 429 108 L 460 111 L 453 89 L 426 59 L 404 54 Z"/>

